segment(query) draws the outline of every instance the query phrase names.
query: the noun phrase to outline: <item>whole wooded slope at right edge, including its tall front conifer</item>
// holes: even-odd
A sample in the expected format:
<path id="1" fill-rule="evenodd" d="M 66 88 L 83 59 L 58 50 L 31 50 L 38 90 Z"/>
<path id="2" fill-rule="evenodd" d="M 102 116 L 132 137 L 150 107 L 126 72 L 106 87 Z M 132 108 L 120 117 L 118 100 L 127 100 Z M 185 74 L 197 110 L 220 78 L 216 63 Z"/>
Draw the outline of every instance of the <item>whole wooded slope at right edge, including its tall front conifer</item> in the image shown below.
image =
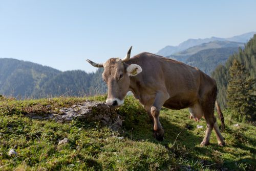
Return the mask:
<path id="1" fill-rule="evenodd" d="M 228 107 L 239 120 L 256 120 L 256 35 L 244 50 L 230 56 L 219 65 L 212 77 L 218 85 L 218 101 Z"/>

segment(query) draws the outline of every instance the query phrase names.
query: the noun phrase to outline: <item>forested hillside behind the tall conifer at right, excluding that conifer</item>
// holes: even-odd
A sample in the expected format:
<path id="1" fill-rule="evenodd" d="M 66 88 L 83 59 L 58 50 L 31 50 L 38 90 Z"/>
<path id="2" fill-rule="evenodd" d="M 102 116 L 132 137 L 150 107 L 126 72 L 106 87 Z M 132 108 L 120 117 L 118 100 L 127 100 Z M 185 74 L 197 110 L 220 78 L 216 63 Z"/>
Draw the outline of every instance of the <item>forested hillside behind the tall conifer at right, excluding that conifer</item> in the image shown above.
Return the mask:
<path id="1" fill-rule="evenodd" d="M 230 56 L 225 65 L 219 65 L 212 73 L 212 77 L 217 81 L 218 101 L 222 107 L 226 107 L 227 104 L 227 85 L 230 80 L 229 68 L 234 59 L 245 66 L 251 78 L 256 78 L 256 35 L 246 44 L 244 50 L 240 49 L 238 53 Z"/>

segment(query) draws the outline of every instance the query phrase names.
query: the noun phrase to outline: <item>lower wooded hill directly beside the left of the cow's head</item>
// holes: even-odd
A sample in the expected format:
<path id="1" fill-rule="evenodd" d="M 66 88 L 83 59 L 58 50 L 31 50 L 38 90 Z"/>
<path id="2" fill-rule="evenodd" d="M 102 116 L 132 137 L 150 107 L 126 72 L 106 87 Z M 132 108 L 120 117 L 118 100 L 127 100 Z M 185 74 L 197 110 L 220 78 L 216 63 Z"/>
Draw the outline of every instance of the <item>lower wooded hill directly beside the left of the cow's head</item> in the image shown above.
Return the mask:
<path id="1" fill-rule="evenodd" d="M 56 75 L 41 86 L 34 96 L 83 96 L 106 92 L 106 84 L 102 80 L 103 69 L 88 74 L 81 70 L 65 71 Z"/>

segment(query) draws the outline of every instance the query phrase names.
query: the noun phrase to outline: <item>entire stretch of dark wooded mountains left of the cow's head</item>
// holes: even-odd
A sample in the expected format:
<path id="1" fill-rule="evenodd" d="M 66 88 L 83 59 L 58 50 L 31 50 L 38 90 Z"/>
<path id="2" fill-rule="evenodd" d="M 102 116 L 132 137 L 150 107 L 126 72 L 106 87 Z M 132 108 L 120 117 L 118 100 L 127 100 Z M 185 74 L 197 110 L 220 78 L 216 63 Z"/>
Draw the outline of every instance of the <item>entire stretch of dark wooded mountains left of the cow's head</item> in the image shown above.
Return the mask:
<path id="1" fill-rule="evenodd" d="M 48 97 L 105 93 L 103 69 L 88 74 L 81 70 L 59 71 L 32 62 L 0 59 L 0 94 L 7 96 Z"/>

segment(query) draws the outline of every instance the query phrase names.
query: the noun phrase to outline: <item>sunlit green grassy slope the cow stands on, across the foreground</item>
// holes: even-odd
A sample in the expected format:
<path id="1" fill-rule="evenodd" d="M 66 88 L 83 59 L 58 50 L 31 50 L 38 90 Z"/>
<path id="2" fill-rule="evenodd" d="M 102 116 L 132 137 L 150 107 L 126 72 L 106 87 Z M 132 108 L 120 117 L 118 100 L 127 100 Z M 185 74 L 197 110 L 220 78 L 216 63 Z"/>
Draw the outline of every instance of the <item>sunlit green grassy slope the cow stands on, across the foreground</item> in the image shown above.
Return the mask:
<path id="1" fill-rule="evenodd" d="M 86 100 L 106 96 L 55 99 L 0 100 L 0 170 L 255 170 L 255 126 L 232 120 L 223 111 L 226 146 L 219 147 L 215 133 L 211 144 L 201 147 L 206 128 L 197 129 L 187 110 L 161 110 L 165 138 L 153 138 L 151 120 L 132 96 L 117 111 L 123 116 L 119 132 L 98 123 L 56 123 L 25 117 L 28 112 L 48 113 Z M 57 111 L 56 111 L 57 112 Z M 219 121 L 219 120 L 218 120 Z M 67 144 L 58 141 L 67 137 Z M 119 139 L 118 137 L 124 137 Z M 17 156 L 9 157 L 15 149 Z"/>

